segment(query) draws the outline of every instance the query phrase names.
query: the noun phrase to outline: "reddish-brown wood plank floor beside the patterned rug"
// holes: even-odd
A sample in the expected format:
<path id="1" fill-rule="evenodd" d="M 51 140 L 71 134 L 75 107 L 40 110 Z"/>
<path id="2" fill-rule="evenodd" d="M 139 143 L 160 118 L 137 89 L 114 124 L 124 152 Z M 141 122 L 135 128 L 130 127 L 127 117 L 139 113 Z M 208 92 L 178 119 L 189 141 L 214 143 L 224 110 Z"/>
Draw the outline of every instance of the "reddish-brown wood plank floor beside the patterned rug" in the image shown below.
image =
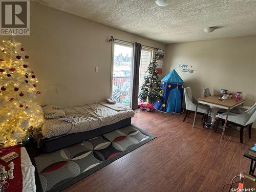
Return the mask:
<path id="1" fill-rule="evenodd" d="M 184 113 L 135 113 L 132 124 L 157 138 L 64 191 L 221 191 L 233 176 L 248 172 L 243 154 L 256 130 L 252 139 L 245 131 L 240 144 L 237 130 L 228 129 L 221 139 L 221 133 L 202 129 L 200 115 L 192 128 L 193 115 L 182 122 Z"/>

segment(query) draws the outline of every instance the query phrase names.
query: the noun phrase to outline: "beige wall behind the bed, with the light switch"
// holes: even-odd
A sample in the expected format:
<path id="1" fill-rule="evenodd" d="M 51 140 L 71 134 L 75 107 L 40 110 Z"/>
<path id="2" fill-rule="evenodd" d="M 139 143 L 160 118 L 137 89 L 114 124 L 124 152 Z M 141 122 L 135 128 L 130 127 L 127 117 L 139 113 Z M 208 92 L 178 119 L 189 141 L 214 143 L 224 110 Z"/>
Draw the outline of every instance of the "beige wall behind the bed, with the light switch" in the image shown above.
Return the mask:
<path id="1" fill-rule="evenodd" d="M 165 44 L 31 2 L 30 36 L 17 36 L 39 79 L 40 104 L 94 103 L 110 95 L 110 36 L 165 49 Z M 0 40 L 7 37 L 0 37 Z M 95 67 L 99 72 L 95 73 Z"/>

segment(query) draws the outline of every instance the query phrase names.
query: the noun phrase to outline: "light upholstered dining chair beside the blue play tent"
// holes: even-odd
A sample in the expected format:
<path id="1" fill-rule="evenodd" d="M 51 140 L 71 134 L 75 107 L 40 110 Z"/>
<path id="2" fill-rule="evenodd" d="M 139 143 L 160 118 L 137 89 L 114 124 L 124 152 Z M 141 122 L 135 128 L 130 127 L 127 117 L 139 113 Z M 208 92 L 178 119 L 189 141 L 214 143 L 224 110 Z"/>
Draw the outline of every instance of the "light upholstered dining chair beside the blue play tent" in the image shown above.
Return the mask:
<path id="1" fill-rule="evenodd" d="M 186 103 L 186 114 L 183 119 L 183 122 L 186 120 L 187 116 L 189 116 L 191 112 L 196 111 L 196 107 L 197 107 L 197 100 L 193 97 L 192 90 L 190 87 L 187 87 L 184 89 L 184 96 L 185 96 L 185 103 Z M 208 114 L 208 110 L 209 109 L 207 106 L 198 105 L 197 113 L 203 115 L 204 121 L 206 119 L 206 114 Z M 204 127 L 204 122 L 203 122 L 203 127 Z"/>

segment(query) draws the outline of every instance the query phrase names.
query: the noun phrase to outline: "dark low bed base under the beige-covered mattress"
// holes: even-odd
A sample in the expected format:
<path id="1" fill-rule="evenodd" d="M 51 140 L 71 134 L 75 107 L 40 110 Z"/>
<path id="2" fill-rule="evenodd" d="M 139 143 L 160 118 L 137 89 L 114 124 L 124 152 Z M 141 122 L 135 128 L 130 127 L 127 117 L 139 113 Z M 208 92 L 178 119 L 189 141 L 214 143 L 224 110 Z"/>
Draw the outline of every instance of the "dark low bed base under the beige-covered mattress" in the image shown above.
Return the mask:
<path id="1" fill-rule="evenodd" d="M 54 151 L 60 150 L 61 148 L 64 148 L 76 143 L 80 143 L 82 141 L 86 141 L 88 139 L 97 137 L 99 135 L 102 135 L 108 132 L 112 132 L 114 130 L 120 129 L 121 127 L 130 125 L 131 119 L 132 118 L 123 119 L 114 124 L 102 126 L 100 128 L 86 131 L 86 132 L 79 132 L 79 133 L 63 135 L 59 137 L 53 137 L 50 139 L 44 139 L 42 141 L 42 151 L 44 153 L 54 152 Z"/>

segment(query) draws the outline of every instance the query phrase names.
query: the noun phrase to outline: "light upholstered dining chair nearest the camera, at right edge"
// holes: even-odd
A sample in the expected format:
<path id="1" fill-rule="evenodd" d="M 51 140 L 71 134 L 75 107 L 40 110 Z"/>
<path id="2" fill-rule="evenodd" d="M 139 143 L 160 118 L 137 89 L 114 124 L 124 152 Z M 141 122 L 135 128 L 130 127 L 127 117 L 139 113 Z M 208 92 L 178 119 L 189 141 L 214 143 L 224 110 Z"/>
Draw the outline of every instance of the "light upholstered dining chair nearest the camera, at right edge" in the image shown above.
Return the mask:
<path id="1" fill-rule="evenodd" d="M 215 132 L 218 129 L 220 121 L 225 121 L 227 113 L 218 114 L 217 126 Z M 249 138 L 251 138 L 251 126 L 256 120 L 256 103 L 248 110 L 240 114 L 229 113 L 227 118 L 228 124 L 233 124 L 240 127 L 240 142 L 243 143 L 243 131 L 248 126 Z"/>

